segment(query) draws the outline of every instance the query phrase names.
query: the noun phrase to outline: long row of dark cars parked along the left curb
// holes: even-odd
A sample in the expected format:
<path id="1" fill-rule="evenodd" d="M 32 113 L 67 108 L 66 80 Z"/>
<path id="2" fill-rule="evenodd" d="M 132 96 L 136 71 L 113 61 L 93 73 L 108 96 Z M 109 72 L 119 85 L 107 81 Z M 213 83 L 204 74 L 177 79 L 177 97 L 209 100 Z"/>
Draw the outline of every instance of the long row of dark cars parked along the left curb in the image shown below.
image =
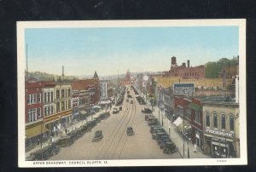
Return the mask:
<path id="1" fill-rule="evenodd" d="M 42 149 L 32 152 L 30 156 L 26 158 L 26 161 L 44 161 L 49 159 L 51 156 L 54 156 L 60 152 L 60 147 L 71 146 L 75 140 L 78 140 L 86 132 L 93 129 L 97 123 L 100 123 L 103 119 L 108 118 L 109 116 L 109 112 L 101 113 L 98 117 L 94 118 L 94 120 L 80 126 L 79 129 L 74 129 L 68 132 L 67 135 L 61 136 L 59 140 L 51 142 L 49 146 L 45 146 Z"/>

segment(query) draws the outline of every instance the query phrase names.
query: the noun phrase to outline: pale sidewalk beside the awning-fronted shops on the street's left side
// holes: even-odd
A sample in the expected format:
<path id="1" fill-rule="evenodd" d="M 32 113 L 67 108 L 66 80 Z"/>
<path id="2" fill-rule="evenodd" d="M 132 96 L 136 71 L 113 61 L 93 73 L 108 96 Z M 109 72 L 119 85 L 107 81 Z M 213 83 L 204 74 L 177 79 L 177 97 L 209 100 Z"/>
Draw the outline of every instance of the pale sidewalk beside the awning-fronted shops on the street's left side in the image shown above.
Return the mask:
<path id="1" fill-rule="evenodd" d="M 84 123 L 91 121 L 92 119 L 96 118 L 99 116 L 99 114 L 101 114 L 102 112 L 110 112 L 111 109 L 108 109 L 107 111 L 105 109 L 101 110 L 100 112 L 96 112 L 96 114 L 90 115 L 89 117 L 87 117 L 84 120 L 78 121 L 77 123 L 73 123 L 70 124 L 68 127 L 66 127 L 65 129 L 67 129 L 69 132 L 72 131 L 73 129 L 79 129 L 79 127 L 81 125 L 83 125 Z M 53 140 L 59 140 L 61 138 L 61 135 L 66 135 L 65 134 L 65 129 L 61 128 L 60 129 L 60 134 L 59 135 L 55 135 L 53 137 Z M 42 143 L 42 148 L 44 148 L 45 146 L 49 146 L 49 141 L 45 141 L 44 143 Z M 34 148 L 32 148 L 32 150 L 26 152 L 26 157 L 28 157 L 30 155 L 30 153 L 37 151 L 38 149 L 41 149 L 41 145 L 39 144 L 38 146 L 35 146 Z"/>

